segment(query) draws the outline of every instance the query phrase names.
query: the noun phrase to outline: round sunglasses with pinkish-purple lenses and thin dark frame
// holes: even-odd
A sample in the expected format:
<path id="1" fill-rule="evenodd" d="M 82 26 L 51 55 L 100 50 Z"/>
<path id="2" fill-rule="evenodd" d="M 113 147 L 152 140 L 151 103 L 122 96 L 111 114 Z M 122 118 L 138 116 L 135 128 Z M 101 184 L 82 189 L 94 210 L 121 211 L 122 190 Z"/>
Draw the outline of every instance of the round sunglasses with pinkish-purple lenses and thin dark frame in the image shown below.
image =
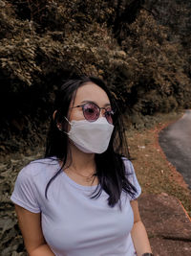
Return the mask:
<path id="1" fill-rule="evenodd" d="M 99 107 L 95 103 L 86 103 L 83 105 L 75 105 L 71 108 L 75 107 L 82 107 L 83 115 L 85 119 L 89 122 L 95 122 L 99 118 L 101 109 L 104 109 L 104 117 L 107 119 L 109 124 L 113 124 L 113 116 L 115 112 L 112 110 L 111 106 Z"/>

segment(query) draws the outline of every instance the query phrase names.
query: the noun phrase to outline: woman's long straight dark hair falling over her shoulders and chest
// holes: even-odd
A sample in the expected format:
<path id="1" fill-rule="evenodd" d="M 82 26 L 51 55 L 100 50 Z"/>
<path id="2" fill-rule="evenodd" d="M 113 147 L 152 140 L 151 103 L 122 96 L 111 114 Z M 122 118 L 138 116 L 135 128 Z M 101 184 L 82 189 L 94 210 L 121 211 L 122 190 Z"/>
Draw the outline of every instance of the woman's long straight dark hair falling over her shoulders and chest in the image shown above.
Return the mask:
<path id="1" fill-rule="evenodd" d="M 117 107 L 117 102 L 112 92 L 108 89 L 104 81 L 96 77 L 82 76 L 76 79 L 70 79 L 65 81 L 61 88 L 57 91 L 53 111 L 56 110 L 54 118 L 51 120 L 48 136 L 47 136 L 47 147 L 45 157 L 52 158 L 56 157 L 62 161 L 62 168 L 66 164 L 68 156 L 68 136 L 64 132 L 60 132 L 57 128 L 57 124 L 62 124 L 66 127 L 67 121 L 64 117 L 68 116 L 69 106 L 74 103 L 74 97 L 76 90 L 85 84 L 86 82 L 94 82 L 96 85 L 101 87 L 108 95 L 112 108 L 115 109 L 114 115 L 114 131 L 110 140 L 107 151 L 96 154 L 96 176 L 98 178 L 100 189 L 94 192 L 95 196 L 92 198 L 98 198 L 101 191 L 104 190 L 108 194 L 108 205 L 114 207 L 115 204 L 120 202 L 121 192 L 124 191 L 129 194 L 132 198 L 135 198 L 137 189 L 128 180 L 128 175 L 125 171 L 124 161 L 122 156 L 129 158 L 129 151 L 125 137 L 125 129 L 123 125 L 122 115 Z M 47 198 L 48 188 L 53 179 L 59 175 L 63 170 L 60 170 L 53 175 L 47 184 L 45 196 Z M 97 193 L 96 193 L 97 192 Z"/>

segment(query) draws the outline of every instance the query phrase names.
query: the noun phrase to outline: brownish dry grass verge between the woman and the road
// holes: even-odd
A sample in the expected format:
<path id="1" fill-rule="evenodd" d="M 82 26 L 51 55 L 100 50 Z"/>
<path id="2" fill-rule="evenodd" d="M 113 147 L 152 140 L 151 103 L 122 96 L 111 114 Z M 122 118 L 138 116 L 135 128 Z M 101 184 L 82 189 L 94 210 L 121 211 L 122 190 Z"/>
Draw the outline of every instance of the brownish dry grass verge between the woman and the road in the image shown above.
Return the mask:
<path id="1" fill-rule="evenodd" d="M 152 128 L 130 129 L 127 137 L 142 193 L 174 196 L 191 217 L 191 191 L 180 173 L 167 161 L 158 141 L 159 130 L 178 120 L 182 113 L 160 114 L 155 117 Z"/>

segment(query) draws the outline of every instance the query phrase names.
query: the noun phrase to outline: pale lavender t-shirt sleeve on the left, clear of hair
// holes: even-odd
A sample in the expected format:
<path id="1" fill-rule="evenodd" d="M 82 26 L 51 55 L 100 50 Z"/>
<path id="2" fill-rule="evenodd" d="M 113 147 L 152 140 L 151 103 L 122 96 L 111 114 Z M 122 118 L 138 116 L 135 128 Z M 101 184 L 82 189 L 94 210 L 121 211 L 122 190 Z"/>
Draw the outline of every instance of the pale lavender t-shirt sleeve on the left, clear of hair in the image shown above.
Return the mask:
<path id="1" fill-rule="evenodd" d="M 31 172 L 30 166 L 27 166 L 17 175 L 11 201 L 32 213 L 39 213 L 40 207 L 36 199 L 37 191 Z"/>

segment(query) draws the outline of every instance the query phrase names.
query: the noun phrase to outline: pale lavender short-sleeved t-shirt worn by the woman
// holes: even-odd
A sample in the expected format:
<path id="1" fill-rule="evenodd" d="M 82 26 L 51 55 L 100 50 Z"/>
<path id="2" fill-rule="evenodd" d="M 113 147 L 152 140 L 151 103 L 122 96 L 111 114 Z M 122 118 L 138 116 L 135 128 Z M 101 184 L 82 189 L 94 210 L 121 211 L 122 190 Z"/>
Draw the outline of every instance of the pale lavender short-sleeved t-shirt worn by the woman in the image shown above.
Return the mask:
<path id="1" fill-rule="evenodd" d="M 129 180 L 141 189 L 132 163 L 124 158 Z M 131 238 L 134 223 L 132 199 L 122 192 L 118 204 L 108 205 L 108 195 L 102 191 L 91 199 L 96 186 L 82 186 L 61 172 L 48 189 L 50 178 L 60 169 L 56 158 L 32 161 L 17 176 L 11 201 L 32 213 L 41 213 L 44 238 L 56 256 L 133 256 Z M 98 185 L 99 186 L 99 185 Z M 30 232 L 30 230 L 29 230 Z"/>

